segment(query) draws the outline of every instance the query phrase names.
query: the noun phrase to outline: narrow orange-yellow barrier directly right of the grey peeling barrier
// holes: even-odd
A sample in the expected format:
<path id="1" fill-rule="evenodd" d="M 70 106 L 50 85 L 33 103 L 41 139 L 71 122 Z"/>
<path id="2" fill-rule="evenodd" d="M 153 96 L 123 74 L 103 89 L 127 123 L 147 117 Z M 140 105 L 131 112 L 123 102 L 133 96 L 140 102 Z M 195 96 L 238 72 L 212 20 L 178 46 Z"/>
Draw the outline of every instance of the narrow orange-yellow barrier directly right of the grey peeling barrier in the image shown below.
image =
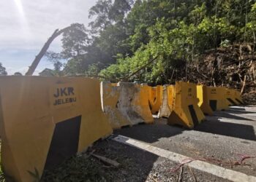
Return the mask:
<path id="1" fill-rule="evenodd" d="M 152 114 L 157 114 L 160 106 L 162 105 L 162 93 L 163 87 L 162 85 L 157 85 L 157 87 L 148 87 L 148 101 L 149 106 L 151 108 Z"/>

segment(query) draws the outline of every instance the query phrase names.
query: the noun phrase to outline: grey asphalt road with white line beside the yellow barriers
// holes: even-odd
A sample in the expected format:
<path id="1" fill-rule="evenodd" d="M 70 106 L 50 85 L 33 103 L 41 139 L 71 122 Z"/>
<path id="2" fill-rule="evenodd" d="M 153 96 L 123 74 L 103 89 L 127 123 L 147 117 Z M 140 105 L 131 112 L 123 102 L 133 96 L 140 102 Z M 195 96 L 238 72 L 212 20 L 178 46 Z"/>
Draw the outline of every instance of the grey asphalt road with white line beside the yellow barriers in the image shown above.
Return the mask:
<path id="1" fill-rule="evenodd" d="M 233 181 L 253 181 L 256 158 L 245 159 L 244 165 L 238 165 L 238 160 L 239 154 L 256 157 L 256 106 L 232 107 L 215 112 L 206 120 L 194 130 L 167 125 L 166 119 L 116 130 L 109 138 L 97 141 L 85 153 L 46 174 L 42 181 L 226 182 L 227 176 Z M 116 138 L 125 138 L 125 142 Z M 120 165 L 113 167 L 91 154 Z M 178 162 L 183 160 L 178 160 L 178 154 L 183 159 L 214 160 L 204 161 L 208 168 L 198 161 L 181 167 Z"/>

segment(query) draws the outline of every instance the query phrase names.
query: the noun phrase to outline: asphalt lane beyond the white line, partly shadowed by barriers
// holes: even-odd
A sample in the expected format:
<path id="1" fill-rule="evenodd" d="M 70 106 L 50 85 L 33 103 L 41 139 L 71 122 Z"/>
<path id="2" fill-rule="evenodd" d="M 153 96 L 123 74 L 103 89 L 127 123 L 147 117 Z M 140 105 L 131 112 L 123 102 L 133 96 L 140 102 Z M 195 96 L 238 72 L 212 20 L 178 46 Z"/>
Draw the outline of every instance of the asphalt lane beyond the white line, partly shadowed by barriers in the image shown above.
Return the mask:
<path id="1" fill-rule="evenodd" d="M 238 154 L 256 155 L 256 106 L 231 107 L 228 111 L 214 112 L 214 116 L 206 119 L 194 130 L 168 126 L 166 119 L 155 119 L 154 124 L 117 130 L 116 134 L 193 158 L 235 162 Z M 256 176 L 256 158 L 244 162 L 246 165 L 223 167 Z"/>

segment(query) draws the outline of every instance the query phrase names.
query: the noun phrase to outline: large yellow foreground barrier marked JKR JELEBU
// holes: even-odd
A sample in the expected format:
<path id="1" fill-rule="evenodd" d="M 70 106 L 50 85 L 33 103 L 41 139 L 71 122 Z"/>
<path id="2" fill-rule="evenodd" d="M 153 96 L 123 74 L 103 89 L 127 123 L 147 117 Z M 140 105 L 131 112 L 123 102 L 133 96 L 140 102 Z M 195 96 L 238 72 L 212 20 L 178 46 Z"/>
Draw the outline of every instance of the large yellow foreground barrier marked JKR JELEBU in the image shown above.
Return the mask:
<path id="1" fill-rule="evenodd" d="M 34 181 L 29 171 L 40 177 L 110 135 L 99 95 L 97 79 L 0 76 L 4 173 L 14 181 Z"/>

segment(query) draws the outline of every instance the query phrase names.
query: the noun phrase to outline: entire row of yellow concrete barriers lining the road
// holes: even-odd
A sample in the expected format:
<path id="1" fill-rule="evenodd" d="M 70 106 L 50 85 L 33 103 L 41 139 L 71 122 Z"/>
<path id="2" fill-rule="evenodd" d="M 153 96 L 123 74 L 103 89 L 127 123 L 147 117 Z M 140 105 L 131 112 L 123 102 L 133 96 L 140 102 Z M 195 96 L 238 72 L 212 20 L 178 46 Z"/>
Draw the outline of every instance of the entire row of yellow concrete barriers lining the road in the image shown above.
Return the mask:
<path id="1" fill-rule="evenodd" d="M 187 82 L 149 87 L 79 77 L 0 76 L 1 165 L 15 181 L 56 167 L 113 129 L 154 122 L 192 129 L 243 101 L 237 90 Z M 204 114 L 203 114 L 204 113 Z"/>

